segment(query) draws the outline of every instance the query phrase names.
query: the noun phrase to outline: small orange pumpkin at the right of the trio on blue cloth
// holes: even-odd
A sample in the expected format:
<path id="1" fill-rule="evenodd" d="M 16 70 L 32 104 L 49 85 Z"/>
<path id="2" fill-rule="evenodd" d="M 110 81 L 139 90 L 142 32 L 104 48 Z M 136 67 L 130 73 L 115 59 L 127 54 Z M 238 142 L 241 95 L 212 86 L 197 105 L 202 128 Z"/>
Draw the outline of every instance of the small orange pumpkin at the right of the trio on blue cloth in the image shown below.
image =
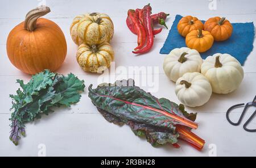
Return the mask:
<path id="1" fill-rule="evenodd" d="M 232 35 L 233 26 L 225 18 L 214 17 L 204 23 L 204 30 L 209 31 L 215 41 L 224 41 Z"/>

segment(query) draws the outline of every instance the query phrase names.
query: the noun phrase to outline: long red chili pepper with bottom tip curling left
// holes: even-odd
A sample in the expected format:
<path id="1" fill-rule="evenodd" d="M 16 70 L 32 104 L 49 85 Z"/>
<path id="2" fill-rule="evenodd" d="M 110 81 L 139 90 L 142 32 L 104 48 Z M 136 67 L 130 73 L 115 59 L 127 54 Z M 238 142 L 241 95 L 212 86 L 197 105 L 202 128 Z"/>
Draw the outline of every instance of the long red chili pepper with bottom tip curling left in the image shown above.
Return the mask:
<path id="1" fill-rule="evenodd" d="M 153 35 L 153 30 L 152 30 L 152 22 L 150 18 L 151 14 L 151 7 L 150 5 L 146 5 L 143 8 L 143 25 L 145 27 L 146 33 L 147 33 L 147 44 L 144 48 L 138 50 L 138 51 L 133 51 L 134 54 L 142 54 L 150 51 L 150 49 L 153 46 L 154 43 L 154 35 Z"/>

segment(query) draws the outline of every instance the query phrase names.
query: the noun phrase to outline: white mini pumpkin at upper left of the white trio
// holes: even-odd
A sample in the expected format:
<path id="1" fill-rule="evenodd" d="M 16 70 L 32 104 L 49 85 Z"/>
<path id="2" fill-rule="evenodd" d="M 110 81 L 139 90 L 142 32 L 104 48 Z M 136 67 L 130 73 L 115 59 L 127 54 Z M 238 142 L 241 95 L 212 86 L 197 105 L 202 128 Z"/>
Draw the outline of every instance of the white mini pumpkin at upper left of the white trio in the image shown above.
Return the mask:
<path id="1" fill-rule="evenodd" d="M 175 48 L 164 58 L 163 69 L 167 77 L 176 82 L 187 72 L 200 72 L 202 63 L 203 59 L 195 49 Z"/>

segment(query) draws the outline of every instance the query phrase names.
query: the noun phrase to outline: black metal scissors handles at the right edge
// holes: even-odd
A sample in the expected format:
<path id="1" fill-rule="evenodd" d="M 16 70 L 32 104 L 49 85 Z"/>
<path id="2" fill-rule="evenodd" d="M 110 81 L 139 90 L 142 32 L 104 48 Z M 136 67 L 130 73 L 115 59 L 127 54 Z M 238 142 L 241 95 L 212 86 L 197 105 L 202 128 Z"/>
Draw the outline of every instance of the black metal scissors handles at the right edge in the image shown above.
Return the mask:
<path id="1" fill-rule="evenodd" d="M 230 113 L 230 111 L 231 111 L 233 108 L 236 108 L 236 107 L 238 107 L 238 106 L 243 106 L 243 105 L 245 105 L 245 108 L 243 108 L 243 112 L 242 112 L 242 114 L 241 114 L 241 116 L 240 116 L 240 119 L 238 120 L 237 123 L 233 123 L 233 122 L 229 119 L 229 113 Z M 243 116 L 245 115 L 245 112 L 246 112 L 247 108 L 250 107 L 250 106 L 256 107 L 256 96 L 254 97 L 253 102 L 249 102 L 249 103 L 246 103 L 246 104 L 245 104 L 245 103 L 236 104 L 236 105 L 230 107 L 230 108 L 228 109 L 228 111 L 226 111 L 226 119 L 227 119 L 227 120 L 229 121 L 229 123 L 232 124 L 232 125 L 239 125 L 239 124 L 241 123 L 241 120 L 242 120 Z M 248 132 L 256 132 L 256 129 L 248 129 L 248 128 L 246 128 L 246 126 L 250 123 L 250 121 L 253 120 L 253 117 L 254 117 L 255 114 L 256 114 L 256 110 L 254 111 L 253 115 L 251 115 L 250 118 L 245 122 L 245 124 L 243 124 L 243 129 L 245 129 L 245 131 L 248 131 Z"/>

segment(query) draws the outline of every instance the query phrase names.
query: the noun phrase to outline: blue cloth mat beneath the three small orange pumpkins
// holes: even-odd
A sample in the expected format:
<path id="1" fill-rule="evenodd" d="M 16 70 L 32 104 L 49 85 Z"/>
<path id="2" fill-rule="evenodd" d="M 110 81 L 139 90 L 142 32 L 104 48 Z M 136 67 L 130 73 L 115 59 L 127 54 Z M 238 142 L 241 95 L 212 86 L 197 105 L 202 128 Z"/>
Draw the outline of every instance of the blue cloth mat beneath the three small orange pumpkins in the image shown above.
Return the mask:
<path id="1" fill-rule="evenodd" d="M 176 15 L 169 35 L 160 50 L 160 54 L 168 54 L 174 48 L 186 47 L 185 38 L 177 32 L 177 24 L 179 23 L 181 15 Z M 204 23 L 205 21 L 202 20 Z M 228 53 L 243 65 L 247 56 L 253 50 L 254 41 L 254 25 L 250 23 L 232 23 L 232 36 L 226 41 L 214 41 L 212 48 L 204 53 L 200 53 L 201 57 L 205 59 L 212 56 L 214 53 Z"/>

